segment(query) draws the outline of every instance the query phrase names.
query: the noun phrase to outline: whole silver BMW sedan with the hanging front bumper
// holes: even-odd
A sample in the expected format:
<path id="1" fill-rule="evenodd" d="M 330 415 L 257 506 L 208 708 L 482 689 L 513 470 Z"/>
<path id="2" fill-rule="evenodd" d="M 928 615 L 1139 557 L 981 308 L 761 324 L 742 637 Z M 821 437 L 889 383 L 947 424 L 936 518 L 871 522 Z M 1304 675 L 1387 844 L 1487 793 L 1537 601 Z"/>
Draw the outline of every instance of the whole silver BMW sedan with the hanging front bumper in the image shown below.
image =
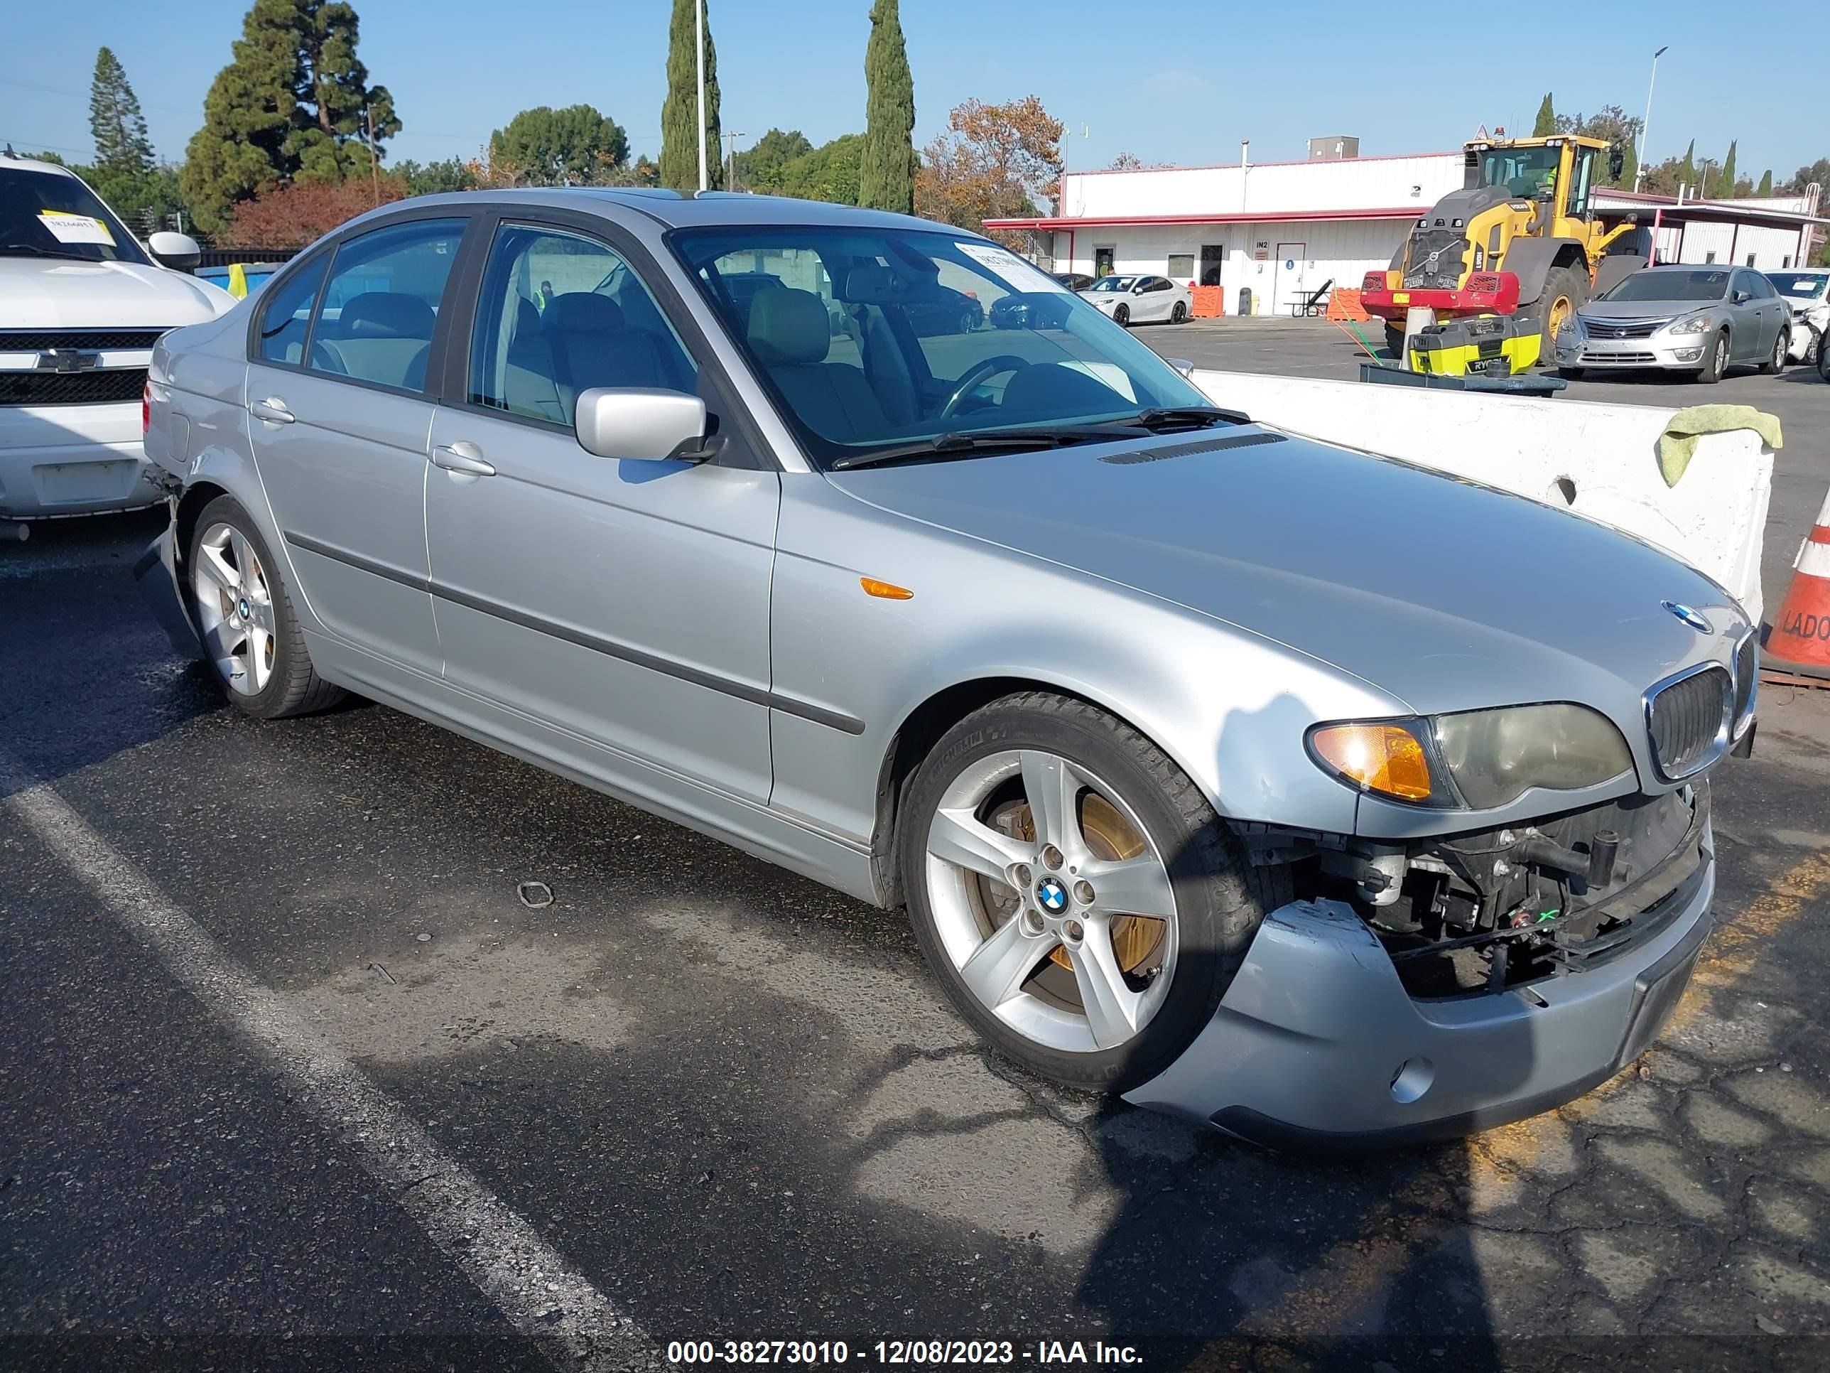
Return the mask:
<path id="1" fill-rule="evenodd" d="M 1358 1146 L 1629 1064 L 1711 926 L 1733 599 L 939 289 L 1060 286 L 807 201 L 390 205 L 161 342 L 143 584 L 253 716 L 359 692 L 908 906 L 1056 1082 Z"/>

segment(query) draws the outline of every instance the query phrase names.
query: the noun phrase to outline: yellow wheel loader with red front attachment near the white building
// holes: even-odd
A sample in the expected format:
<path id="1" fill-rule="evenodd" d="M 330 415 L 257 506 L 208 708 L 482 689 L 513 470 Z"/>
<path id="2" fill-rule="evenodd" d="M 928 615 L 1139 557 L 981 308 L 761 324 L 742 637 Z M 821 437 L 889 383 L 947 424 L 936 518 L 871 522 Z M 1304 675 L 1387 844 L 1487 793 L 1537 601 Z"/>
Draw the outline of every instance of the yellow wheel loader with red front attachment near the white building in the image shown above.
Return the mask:
<path id="1" fill-rule="evenodd" d="M 1539 351 L 1554 357 L 1552 341 L 1576 308 L 1645 262 L 1607 251 L 1638 218 L 1609 229 L 1588 205 L 1598 161 L 1618 174 L 1621 154 L 1574 134 L 1479 139 L 1462 154 L 1462 189 L 1418 218 L 1389 271 L 1367 273 L 1360 302 L 1385 320 L 1394 357 L 1405 355 L 1407 322 L 1512 313 L 1537 320 Z"/>

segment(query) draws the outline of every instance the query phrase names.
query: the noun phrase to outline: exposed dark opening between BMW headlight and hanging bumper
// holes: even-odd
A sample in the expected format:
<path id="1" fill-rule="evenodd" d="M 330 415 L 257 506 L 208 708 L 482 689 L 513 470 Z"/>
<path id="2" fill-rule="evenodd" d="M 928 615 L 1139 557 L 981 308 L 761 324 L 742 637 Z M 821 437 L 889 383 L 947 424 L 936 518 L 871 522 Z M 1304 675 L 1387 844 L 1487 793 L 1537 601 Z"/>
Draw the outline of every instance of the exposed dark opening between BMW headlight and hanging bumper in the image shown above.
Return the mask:
<path id="1" fill-rule="evenodd" d="M 1532 824 L 1385 842 L 1239 824 L 1297 899 L 1349 901 L 1415 998 L 1499 992 L 1625 952 L 1702 877 L 1709 784 Z"/>

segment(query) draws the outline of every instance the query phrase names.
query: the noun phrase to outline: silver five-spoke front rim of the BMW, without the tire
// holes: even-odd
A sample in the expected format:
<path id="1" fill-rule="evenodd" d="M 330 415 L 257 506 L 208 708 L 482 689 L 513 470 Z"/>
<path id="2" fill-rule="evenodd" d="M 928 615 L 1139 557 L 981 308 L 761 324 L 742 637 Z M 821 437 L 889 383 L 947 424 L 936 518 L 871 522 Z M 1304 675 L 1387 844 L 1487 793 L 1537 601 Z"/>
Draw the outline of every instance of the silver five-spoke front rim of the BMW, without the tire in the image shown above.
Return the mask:
<path id="1" fill-rule="evenodd" d="M 953 778 L 930 822 L 926 882 L 961 979 L 1039 1045 L 1116 1049 L 1169 994 L 1169 870 L 1125 800 L 1060 754 L 996 752 Z"/>

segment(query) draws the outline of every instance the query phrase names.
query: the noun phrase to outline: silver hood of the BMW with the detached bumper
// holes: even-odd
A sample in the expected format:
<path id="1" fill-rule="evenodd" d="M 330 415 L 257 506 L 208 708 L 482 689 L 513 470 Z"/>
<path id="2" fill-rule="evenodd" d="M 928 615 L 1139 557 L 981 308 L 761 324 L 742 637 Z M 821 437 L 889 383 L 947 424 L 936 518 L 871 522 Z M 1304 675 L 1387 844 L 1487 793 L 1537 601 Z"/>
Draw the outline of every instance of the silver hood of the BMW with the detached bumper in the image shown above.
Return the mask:
<path id="1" fill-rule="evenodd" d="M 1257 427 L 831 480 L 1283 643 L 1420 714 L 1574 699 L 1625 729 L 1649 685 L 1702 655 L 1662 600 L 1742 624 L 1707 577 L 1605 525 Z"/>

